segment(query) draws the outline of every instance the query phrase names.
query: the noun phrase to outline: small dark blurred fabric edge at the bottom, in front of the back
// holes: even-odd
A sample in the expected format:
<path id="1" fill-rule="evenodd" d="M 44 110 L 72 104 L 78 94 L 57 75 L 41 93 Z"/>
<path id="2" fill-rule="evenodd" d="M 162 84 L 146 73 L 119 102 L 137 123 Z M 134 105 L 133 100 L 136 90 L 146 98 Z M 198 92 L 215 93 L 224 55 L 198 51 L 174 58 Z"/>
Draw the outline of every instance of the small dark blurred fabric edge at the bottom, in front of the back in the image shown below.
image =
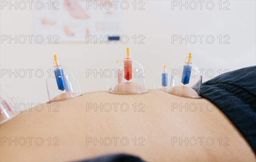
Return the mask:
<path id="1" fill-rule="evenodd" d="M 131 156 L 127 154 L 112 154 L 96 157 L 93 159 L 87 159 L 81 162 L 145 162 L 139 157 Z"/>

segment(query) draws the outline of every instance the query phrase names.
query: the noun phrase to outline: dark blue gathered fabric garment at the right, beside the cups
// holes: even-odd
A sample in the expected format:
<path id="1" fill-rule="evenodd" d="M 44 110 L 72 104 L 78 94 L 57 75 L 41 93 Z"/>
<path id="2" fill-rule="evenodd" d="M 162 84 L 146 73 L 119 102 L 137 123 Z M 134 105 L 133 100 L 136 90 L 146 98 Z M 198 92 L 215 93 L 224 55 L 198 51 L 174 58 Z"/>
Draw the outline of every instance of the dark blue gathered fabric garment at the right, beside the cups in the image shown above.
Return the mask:
<path id="1" fill-rule="evenodd" d="M 256 153 L 256 66 L 204 82 L 201 96 L 215 104 L 243 134 Z"/>

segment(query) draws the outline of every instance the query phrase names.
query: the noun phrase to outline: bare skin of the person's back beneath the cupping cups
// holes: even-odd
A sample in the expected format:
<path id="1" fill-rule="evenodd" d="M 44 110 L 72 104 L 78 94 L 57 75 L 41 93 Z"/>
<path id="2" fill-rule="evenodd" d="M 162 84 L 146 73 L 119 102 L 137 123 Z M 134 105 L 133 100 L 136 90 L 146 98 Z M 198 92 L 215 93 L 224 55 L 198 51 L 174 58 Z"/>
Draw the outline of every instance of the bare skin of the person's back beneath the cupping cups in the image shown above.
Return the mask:
<path id="1" fill-rule="evenodd" d="M 0 161 L 78 161 L 112 153 L 150 162 L 256 161 L 232 122 L 204 98 L 100 91 L 42 106 L 0 125 Z"/>

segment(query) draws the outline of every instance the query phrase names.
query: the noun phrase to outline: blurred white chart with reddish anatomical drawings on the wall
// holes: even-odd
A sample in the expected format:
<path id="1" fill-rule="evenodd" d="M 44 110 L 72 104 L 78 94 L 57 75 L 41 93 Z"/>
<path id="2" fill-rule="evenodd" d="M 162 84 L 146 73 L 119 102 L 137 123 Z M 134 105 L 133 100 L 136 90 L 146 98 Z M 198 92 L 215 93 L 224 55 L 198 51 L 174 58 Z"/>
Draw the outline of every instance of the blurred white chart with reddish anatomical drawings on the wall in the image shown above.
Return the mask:
<path id="1" fill-rule="evenodd" d="M 120 10 L 111 1 L 38 0 L 35 6 L 35 35 L 44 42 L 119 40 Z"/>

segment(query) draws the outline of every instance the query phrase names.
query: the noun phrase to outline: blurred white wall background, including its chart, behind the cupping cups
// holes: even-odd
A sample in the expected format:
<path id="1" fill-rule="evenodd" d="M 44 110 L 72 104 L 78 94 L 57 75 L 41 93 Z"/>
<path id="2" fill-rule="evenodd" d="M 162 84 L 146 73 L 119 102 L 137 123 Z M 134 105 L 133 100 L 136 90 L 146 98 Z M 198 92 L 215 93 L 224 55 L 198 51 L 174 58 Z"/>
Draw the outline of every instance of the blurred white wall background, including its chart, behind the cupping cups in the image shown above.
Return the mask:
<path id="1" fill-rule="evenodd" d="M 203 69 L 203 82 L 256 65 L 254 0 L 1 0 L 0 12 L 0 88 L 25 103 L 48 101 L 54 54 L 72 69 L 82 93 L 110 88 L 104 71 L 124 58 L 127 47 L 145 69 L 147 89 L 163 65 L 171 71 L 189 52 Z M 120 40 L 110 42 L 107 35 Z"/>

